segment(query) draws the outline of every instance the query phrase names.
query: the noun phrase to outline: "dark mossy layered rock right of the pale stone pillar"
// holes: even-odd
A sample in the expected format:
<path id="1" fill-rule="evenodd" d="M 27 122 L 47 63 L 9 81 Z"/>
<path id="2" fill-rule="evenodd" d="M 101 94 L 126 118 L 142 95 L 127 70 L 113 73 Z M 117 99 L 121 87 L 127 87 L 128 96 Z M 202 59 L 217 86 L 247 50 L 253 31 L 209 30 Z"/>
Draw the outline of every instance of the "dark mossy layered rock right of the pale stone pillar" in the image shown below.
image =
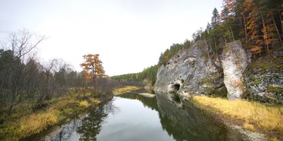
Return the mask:
<path id="1" fill-rule="evenodd" d="M 283 56 L 272 53 L 248 64 L 244 98 L 283 104 Z"/>

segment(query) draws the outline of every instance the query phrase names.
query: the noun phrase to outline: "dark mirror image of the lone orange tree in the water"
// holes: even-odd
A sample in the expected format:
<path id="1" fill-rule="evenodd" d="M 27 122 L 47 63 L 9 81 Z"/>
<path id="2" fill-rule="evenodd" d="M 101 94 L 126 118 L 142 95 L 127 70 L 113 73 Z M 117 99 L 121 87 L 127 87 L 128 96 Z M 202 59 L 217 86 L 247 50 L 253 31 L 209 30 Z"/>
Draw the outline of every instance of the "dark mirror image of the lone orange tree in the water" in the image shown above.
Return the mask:
<path id="1" fill-rule="evenodd" d="M 105 118 L 116 111 L 117 108 L 112 105 L 112 102 L 89 109 L 88 115 L 81 121 L 81 127 L 76 131 L 81 135 L 79 140 L 96 140 L 96 135 L 100 133 L 101 124 Z"/>

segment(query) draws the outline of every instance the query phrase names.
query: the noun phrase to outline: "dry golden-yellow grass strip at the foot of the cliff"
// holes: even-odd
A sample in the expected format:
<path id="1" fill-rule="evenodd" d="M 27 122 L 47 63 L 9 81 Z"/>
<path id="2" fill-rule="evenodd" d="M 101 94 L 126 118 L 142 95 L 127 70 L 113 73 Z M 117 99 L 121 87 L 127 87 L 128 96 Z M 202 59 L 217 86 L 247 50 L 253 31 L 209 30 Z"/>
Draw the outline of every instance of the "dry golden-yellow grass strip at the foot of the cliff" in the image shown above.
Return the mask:
<path id="1" fill-rule="evenodd" d="M 229 101 L 212 97 L 193 97 L 193 101 L 203 106 L 210 106 L 222 114 L 254 123 L 265 130 L 283 133 L 283 106 L 267 106 L 256 102 Z"/>

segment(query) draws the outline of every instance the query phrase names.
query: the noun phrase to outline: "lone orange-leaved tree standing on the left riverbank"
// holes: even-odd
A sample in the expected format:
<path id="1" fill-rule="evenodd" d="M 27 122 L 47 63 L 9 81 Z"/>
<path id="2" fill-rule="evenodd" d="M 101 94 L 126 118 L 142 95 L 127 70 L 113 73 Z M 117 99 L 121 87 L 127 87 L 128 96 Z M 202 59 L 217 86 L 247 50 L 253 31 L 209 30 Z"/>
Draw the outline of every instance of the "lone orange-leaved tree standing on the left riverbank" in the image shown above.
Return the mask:
<path id="1" fill-rule="evenodd" d="M 105 77 L 105 71 L 102 66 L 102 61 L 98 58 L 99 54 L 87 54 L 83 56 L 85 60 L 80 64 L 81 68 L 86 71 L 85 78 L 93 82 L 96 86 L 97 78 Z"/>

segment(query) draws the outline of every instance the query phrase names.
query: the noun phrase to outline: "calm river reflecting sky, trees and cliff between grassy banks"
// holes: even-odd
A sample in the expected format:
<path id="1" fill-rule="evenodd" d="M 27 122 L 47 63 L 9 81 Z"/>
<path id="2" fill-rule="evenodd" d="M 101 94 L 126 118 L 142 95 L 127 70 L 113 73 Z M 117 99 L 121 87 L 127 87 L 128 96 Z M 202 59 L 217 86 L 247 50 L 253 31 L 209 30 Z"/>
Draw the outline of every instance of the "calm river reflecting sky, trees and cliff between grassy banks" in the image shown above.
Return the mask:
<path id="1" fill-rule="evenodd" d="M 23 140 L 246 140 L 175 94 L 137 90 L 90 107 L 86 114 Z"/>

